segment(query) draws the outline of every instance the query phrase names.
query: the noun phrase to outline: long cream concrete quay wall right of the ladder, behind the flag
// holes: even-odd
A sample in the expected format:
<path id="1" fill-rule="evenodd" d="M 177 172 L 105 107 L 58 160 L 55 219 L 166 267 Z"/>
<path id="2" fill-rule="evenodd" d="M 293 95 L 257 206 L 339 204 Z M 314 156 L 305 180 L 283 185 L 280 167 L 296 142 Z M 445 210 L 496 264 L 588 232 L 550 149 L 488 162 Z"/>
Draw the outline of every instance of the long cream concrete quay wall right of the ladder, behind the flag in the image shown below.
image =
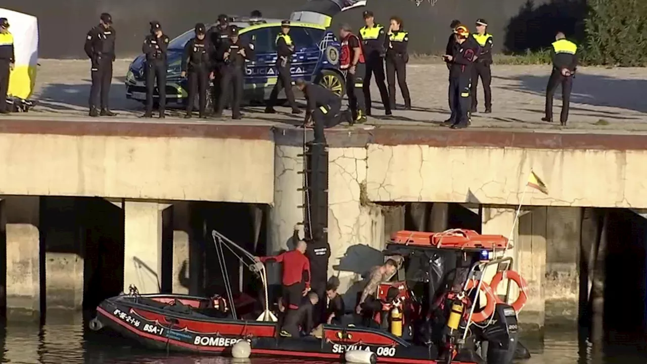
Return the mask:
<path id="1" fill-rule="evenodd" d="M 371 201 L 515 205 L 532 168 L 550 194 L 529 190 L 524 205 L 647 207 L 647 151 L 369 144 L 367 159 Z"/>

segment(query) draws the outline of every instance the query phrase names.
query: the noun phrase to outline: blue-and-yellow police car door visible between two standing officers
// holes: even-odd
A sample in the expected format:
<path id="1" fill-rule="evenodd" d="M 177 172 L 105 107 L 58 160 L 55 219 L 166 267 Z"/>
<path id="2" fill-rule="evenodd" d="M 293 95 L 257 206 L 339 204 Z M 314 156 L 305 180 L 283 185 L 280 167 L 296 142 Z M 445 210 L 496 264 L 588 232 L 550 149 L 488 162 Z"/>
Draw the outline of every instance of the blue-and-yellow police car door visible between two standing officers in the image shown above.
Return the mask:
<path id="1" fill-rule="evenodd" d="M 250 98 L 263 100 L 265 88 L 276 84 L 276 75 L 268 74 L 276 62 L 274 51 L 274 30 L 278 27 L 262 27 L 248 30 L 241 34 L 241 38 L 254 44 L 256 57 L 248 61 L 245 69 L 245 93 L 252 93 Z M 258 95 L 256 95 L 258 93 Z"/>

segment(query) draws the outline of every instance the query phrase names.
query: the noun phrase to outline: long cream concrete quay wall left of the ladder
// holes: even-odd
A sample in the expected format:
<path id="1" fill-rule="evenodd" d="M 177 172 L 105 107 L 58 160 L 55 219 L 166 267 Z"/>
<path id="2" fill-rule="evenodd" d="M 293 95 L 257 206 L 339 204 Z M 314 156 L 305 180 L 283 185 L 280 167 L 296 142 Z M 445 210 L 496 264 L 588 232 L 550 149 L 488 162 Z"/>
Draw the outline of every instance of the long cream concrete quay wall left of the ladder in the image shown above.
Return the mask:
<path id="1" fill-rule="evenodd" d="M 0 155 L 0 194 L 268 204 L 274 197 L 272 141 L 2 134 Z"/>

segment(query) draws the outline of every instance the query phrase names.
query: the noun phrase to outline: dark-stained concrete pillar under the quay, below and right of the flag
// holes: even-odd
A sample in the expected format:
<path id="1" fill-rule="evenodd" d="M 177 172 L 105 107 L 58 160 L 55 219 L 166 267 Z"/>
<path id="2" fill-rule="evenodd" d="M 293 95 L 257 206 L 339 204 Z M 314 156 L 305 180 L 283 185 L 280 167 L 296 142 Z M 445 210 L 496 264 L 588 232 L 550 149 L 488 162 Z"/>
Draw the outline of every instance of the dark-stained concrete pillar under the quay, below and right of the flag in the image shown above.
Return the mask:
<path id="1" fill-rule="evenodd" d="M 546 325 L 577 328 L 582 208 L 548 207 Z"/>

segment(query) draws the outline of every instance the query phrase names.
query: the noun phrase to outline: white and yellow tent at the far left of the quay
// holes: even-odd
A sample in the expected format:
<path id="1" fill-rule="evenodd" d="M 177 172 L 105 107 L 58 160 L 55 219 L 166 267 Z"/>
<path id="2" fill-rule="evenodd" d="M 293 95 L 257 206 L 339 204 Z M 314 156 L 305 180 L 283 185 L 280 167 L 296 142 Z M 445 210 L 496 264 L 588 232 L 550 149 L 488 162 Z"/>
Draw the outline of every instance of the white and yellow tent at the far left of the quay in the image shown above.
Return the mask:
<path id="1" fill-rule="evenodd" d="M 9 21 L 14 35 L 16 67 L 9 78 L 8 96 L 27 100 L 34 92 L 38 64 L 38 18 L 0 8 L 0 17 Z"/>

